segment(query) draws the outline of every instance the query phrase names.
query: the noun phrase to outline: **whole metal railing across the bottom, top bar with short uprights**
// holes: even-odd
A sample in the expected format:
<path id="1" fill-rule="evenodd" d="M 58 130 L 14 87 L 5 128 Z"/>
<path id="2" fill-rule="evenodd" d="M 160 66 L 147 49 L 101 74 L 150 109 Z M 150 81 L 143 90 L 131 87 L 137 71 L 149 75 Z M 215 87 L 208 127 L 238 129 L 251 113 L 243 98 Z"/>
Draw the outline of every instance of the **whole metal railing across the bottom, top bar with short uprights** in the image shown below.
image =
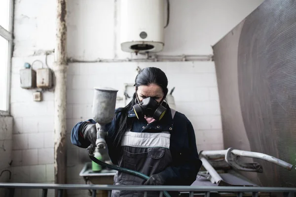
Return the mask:
<path id="1" fill-rule="evenodd" d="M 36 183 L 0 183 L 0 188 L 9 190 L 9 197 L 14 196 L 14 190 L 21 189 L 41 189 L 42 197 L 47 197 L 49 189 L 57 190 L 58 197 L 63 196 L 64 190 L 91 190 L 92 197 L 96 196 L 96 191 L 108 191 L 108 196 L 111 197 L 112 190 L 120 191 L 144 191 L 144 197 L 148 191 L 159 191 L 160 197 L 163 196 L 163 191 L 174 191 L 186 193 L 187 196 L 193 197 L 198 193 L 198 196 L 210 197 L 213 192 L 232 193 L 237 197 L 247 196 L 258 197 L 260 193 L 282 193 L 284 197 L 294 197 L 296 188 L 281 188 L 281 187 L 218 187 L 218 186 L 122 186 L 122 185 L 83 185 L 83 184 L 36 184 Z"/>

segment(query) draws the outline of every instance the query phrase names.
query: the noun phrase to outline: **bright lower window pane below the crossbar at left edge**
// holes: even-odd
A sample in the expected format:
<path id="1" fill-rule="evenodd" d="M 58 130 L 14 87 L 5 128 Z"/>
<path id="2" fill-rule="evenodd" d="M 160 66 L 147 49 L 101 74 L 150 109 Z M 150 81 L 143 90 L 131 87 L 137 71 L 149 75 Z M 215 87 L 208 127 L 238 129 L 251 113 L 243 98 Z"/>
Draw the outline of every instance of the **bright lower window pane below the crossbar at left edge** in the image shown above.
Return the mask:
<path id="1" fill-rule="evenodd" d="M 0 36 L 0 110 L 7 110 L 8 41 Z"/>

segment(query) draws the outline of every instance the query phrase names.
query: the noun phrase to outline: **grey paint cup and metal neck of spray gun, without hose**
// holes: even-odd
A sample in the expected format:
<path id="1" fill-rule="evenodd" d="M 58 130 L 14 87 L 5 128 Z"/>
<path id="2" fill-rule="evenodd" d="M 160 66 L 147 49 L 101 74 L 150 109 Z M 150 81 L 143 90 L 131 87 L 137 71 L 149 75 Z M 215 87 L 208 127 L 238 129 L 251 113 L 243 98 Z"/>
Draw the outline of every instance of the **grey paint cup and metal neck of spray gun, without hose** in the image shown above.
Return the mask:
<path id="1" fill-rule="evenodd" d="M 114 117 L 118 90 L 104 87 L 94 88 L 94 91 L 92 114 L 94 121 L 99 124 L 96 147 L 98 149 L 105 149 L 105 125 L 110 123 Z"/>

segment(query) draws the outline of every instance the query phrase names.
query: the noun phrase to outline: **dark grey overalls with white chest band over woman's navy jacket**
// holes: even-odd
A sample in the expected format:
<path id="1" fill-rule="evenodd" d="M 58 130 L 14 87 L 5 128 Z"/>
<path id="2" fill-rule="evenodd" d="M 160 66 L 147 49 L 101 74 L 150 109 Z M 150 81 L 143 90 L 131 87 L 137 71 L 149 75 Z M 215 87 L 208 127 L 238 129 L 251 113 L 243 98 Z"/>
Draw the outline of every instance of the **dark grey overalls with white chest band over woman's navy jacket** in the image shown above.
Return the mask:
<path id="1" fill-rule="evenodd" d="M 172 117 L 175 111 L 172 111 Z M 163 171 L 172 163 L 170 133 L 127 131 L 121 142 L 119 167 L 136 170 L 148 176 Z M 115 185 L 143 185 L 146 180 L 123 172 L 116 172 Z M 112 191 L 112 197 L 144 197 L 144 191 Z M 147 197 L 159 197 L 159 192 L 150 191 Z"/>

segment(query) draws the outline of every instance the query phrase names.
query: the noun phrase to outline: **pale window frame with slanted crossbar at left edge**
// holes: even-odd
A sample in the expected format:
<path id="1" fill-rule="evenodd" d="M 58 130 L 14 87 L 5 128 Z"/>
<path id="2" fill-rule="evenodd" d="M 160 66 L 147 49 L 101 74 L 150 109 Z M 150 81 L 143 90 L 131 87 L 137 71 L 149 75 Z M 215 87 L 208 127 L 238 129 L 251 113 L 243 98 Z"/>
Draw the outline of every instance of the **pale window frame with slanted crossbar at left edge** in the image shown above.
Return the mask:
<path id="1" fill-rule="evenodd" d="M 8 41 L 8 61 L 7 61 L 7 82 L 6 82 L 6 110 L 0 110 L 0 116 L 10 115 L 10 87 L 11 87 L 11 59 L 13 51 L 13 15 L 14 0 L 9 0 L 9 26 L 8 31 L 0 25 L 0 36 Z"/>

